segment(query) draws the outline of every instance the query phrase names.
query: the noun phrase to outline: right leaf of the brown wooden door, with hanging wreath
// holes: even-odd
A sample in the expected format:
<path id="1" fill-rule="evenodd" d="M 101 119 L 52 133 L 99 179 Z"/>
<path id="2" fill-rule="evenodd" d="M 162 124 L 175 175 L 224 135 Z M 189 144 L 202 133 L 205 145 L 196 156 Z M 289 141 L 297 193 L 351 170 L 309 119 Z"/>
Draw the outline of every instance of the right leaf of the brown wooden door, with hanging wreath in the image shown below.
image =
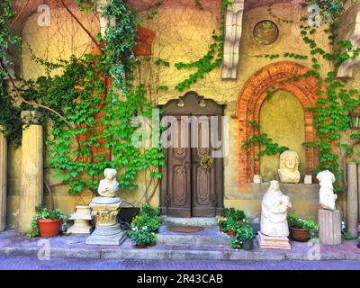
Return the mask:
<path id="1" fill-rule="evenodd" d="M 211 157 L 210 125 L 210 117 L 193 116 L 192 139 L 196 137 L 197 143 L 192 145 L 192 215 L 198 217 L 216 216 L 216 167 Z"/>

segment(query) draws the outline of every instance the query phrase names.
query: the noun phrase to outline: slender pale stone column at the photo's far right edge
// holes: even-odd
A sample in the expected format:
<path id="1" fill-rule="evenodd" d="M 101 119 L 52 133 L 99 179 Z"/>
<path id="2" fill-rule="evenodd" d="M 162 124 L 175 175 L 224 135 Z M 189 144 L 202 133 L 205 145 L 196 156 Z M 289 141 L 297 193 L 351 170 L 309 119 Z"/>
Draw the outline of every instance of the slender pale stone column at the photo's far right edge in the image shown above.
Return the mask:
<path id="1" fill-rule="evenodd" d="M 356 164 L 347 165 L 347 231 L 357 238 L 358 199 Z"/>

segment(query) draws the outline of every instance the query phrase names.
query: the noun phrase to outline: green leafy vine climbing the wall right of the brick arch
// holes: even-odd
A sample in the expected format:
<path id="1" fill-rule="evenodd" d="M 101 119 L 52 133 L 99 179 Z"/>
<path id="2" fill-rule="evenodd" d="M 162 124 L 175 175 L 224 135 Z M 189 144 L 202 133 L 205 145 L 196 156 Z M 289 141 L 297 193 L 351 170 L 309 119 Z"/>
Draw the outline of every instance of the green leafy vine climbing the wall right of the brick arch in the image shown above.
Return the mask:
<path id="1" fill-rule="evenodd" d="M 313 14 L 314 12 L 311 12 L 311 14 L 302 17 L 300 28 L 302 40 L 310 49 L 309 56 L 306 58 L 311 59 L 311 70 L 304 75 L 290 78 L 288 81 L 308 76 L 314 76 L 319 80 L 317 83 L 319 99 L 316 107 L 311 108 L 318 139 L 313 142 L 303 143 L 303 145 L 318 148 L 319 165 L 314 173 L 329 169 L 336 175 L 338 180 L 336 190 L 341 191 L 340 180 L 344 173 L 344 166 L 340 163 L 338 149 L 344 148 L 347 153 L 353 153 L 353 148 L 348 143 L 342 142 L 342 135 L 350 126 L 349 112 L 360 104 L 360 92 L 357 89 L 347 89 L 346 81 L 338 79 L 336 71 L 347 59 L 358 57 L 360 49 L 356 49 L 350 40 L 337 40 L 339 17 L 345 12 L 343 1 L 311 0 L 310 4 L 317 4 L 320 7 L 320 15 L 318 15 L 320 23 L 316 24 L 316 16 Z M 269 9 L 269 12 L 273 14 L 271 9 Z M 324 25 L 327 26 L 325 33 L 329 37 L 329 46 L 332 48 L 330 51 L 320 47 L 316 41 L 320 26 Z M 284 57 L 289 57 L 289 55 L 294 55 L 294 53 L 286 52 Z M 266 57 L 277 58 L 277 56 Z M 322 68 L 320 58 L 329 61 L 334 67 L 334 70 L 328 71 L 324 79 L 320 77 Z M 326 89 L 323 88 L 324 86 L 326 86 Z M 271 91 L 268 93 L 271 96 Z M 351 139 L 357 137 L 357 133 L 351 135 Z"/>

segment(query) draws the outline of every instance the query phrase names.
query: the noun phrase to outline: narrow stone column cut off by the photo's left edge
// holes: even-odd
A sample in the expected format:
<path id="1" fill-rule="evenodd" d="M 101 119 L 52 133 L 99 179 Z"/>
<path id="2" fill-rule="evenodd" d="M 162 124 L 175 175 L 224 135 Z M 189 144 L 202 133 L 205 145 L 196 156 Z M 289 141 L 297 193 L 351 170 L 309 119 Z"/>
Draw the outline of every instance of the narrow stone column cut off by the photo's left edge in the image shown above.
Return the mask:
<path id="1" fill-rule="evenodd" d="M 6 229 L 6 168 L 7 140 L 4 134 L 0 132 L 0 231 Z"/>

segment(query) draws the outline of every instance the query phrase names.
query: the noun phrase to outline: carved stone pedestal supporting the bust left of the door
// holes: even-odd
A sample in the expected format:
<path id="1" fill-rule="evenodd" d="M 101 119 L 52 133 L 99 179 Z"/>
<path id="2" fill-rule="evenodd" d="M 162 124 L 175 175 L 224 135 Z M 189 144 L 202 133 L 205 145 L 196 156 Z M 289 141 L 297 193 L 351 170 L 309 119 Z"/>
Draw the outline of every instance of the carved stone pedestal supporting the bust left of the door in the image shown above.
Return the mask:
<path id="1" fill-rule="evenodd" d="M 121 230 L 116 217 L 122 200 L 117 197 L 95 197 L 90 203 L 96 226 L 92 235 L 86 238 L 88 245 L 121 245 L 126 231 Z"/>

